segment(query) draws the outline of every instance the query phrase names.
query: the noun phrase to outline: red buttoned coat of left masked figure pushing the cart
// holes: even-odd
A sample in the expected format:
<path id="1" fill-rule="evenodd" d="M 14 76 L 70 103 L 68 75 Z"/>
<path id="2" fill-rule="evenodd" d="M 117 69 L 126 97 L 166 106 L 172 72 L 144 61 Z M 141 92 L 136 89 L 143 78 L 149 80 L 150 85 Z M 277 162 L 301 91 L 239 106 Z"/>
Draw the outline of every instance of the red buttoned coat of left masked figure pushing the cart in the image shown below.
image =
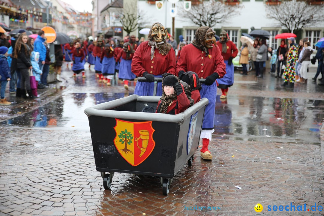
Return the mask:
<path id="1" fill-rule="evenodd" d="M 167 55 L 162 55 L 159 50 L 154 49 L 151 60 L 151 46 L 145 41 L 141 43 L 134 53 L 132 61 L 132 72 L 136 76 L 142 76 L 147 71 L 149 74 L 161 75 L 164 73 L 176 74 L 176 54 L 173 49 Z"/>

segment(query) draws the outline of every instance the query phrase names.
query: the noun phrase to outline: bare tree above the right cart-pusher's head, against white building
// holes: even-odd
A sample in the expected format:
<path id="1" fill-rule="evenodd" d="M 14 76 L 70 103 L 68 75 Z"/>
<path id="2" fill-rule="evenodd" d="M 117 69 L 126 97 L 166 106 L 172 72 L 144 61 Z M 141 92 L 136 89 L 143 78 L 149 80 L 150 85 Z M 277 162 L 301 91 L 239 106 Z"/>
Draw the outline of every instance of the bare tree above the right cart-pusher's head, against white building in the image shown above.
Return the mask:
<path id="1" fill-rule="evenodd" d="M 241 5 L 228 6 L 220 1 L 203 1 L 199 5 L 191 6 L 189 11 L 179 8 L 179 16 L 198 26 L 214 27 L 217 23 L 225 23 L 233 15 L 239 15 Z"/>

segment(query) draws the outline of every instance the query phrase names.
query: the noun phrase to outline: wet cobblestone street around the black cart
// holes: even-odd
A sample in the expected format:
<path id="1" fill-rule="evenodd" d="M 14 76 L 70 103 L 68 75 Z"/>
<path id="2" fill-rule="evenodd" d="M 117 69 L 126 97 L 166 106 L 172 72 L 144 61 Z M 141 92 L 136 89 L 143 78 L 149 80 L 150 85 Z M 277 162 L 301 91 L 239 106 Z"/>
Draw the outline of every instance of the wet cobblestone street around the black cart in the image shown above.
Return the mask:
<path id="1" fill-rule="evenodd" d="M 131 95 L 134 85 L 128 92 L 99 84 L 94 72 L 86 79 L 64 73 L 64 82 L 40 99 L 0 111 L 0 216 L 256 215 L 258 203 L 260 215 L 324 215 L 311 210 L 324 206 L 322 87 L 283 90 L 270 74 L 261 81 L 235 74 L 227 100 L 217 97 L 213 160 L 197 151 L 164 196 L 157 177 L 115 173 L 104 190 L 96 171 L 84 109 Z M 306 210 L 290 211 L 291 203 Z M 185 210 L 195 206 L 206 210 Z"/>

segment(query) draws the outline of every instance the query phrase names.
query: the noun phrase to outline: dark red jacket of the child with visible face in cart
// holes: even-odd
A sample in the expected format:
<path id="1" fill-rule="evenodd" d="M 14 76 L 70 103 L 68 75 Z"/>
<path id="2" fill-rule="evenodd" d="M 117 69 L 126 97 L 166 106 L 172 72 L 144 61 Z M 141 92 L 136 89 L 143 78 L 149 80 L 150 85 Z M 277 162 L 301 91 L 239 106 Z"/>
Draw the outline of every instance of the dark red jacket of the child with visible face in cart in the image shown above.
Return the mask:
<path id="1" fill-rule="evenodd" d="M 183 88 L 183 87 L 182 87 Z M 160 105 L 161 104 L 161 100 L 159 100 L 159 102 L 157 103 L 157 107 L 156 107 L 156 113 L 160 110 Z M 168 106 L 167 109 L 167 114 L 171 114 L 171 115 L 176 115 L 179 114 L 180 112 L 185 111 L 190 105 L 190 101 L 186 95 L 186 93 L 184 93 L 184 91 L 177 96 L 177 100 L 174 100 L 171 105 Z"/>

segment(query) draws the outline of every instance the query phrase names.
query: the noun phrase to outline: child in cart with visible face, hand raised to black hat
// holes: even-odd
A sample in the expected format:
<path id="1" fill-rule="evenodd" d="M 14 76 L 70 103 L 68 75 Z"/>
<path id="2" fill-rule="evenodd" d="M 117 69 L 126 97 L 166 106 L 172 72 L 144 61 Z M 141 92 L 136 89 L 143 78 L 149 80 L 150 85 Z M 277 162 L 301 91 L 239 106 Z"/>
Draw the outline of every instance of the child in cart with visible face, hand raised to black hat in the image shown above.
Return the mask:
<path id="1" fill-rule="evenodd" d="M 179 78 L 167 74 L 162 80 L 162 97 L 157 104 L 156 113 L 176 115 L 183 112 L 194 103 L 193 99 L 189 98 Z"/>

